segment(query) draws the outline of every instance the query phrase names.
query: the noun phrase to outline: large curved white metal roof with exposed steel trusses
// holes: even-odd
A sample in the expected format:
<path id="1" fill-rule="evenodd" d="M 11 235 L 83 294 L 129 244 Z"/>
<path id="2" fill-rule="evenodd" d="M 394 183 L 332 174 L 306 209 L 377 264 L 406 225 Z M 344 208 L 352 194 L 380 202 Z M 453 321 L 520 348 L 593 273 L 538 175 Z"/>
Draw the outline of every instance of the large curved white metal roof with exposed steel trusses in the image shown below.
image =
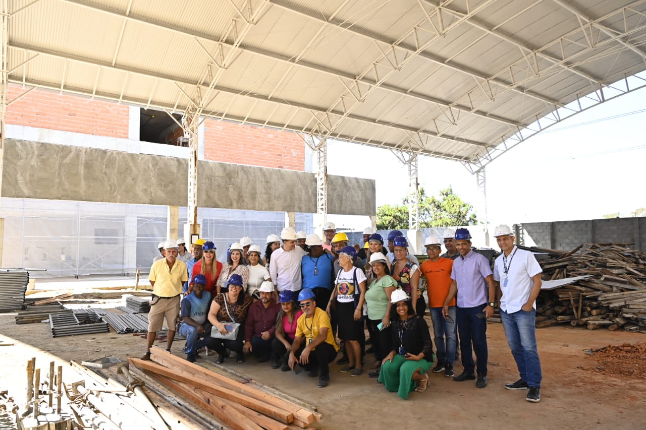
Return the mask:
<path id="1" fill-rule="evenodd" d="M 9 81 L 26 91 L 191 110 L 472 172 L 646 83 L 631 77 L 646 68 L 644 0 L 10 0 L 8 14 Z"/>

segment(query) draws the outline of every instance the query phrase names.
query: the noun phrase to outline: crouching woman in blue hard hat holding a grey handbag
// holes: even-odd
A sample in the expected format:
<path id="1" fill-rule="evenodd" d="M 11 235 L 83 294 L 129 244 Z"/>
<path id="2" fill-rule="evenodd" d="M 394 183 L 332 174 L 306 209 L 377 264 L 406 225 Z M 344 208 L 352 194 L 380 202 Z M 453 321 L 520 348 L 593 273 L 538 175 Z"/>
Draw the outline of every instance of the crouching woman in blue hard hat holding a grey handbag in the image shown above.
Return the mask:
<path id="1" fill-rule="evenodd" d="M 242 289 L 242 276 L 233 274 L 228 283 L 228 291 L 217 294 L 211 302 L 209 322 L 213 324 L 213 329 L 211 335 L 206 336 L 199 346 L 218 353 L 216 364 L 224 363 L 227 348 L 236 352 L 238 363 L 244 363 L 244 322 L 249 306 L 253 303 L 251 296 Z"/>

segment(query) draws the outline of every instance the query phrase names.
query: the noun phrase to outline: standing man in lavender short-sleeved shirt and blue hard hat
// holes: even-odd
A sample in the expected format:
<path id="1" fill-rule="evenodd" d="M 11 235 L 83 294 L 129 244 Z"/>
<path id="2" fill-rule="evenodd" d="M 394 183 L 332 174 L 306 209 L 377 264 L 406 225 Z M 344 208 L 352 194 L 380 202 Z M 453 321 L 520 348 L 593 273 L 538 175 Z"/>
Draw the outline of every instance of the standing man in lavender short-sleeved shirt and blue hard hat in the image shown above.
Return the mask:
<path id="1" fill-rule="evenodd" d="M 455 246 L 460 253 L 453 261 L 451 278 L 453 283 L 444 300 L 442 311 L 448 316 L 448 303 L 457 294 L 455 318 L 460 335 L 462 351 L 462 374 L 455 376 L 454 381 L 474 380 L 474 357 L 477 360 L 478 380 L 475 386 L 485 388 L 486 362 L 488 350 L 486 345 L 486 318 L 494 314 L 495 285 L 491 265 L 485 256 L 471 250 L 471 234 L 467 229 L 455 231 Z M 472 350 L 473 343 L 473 350 Z"/>

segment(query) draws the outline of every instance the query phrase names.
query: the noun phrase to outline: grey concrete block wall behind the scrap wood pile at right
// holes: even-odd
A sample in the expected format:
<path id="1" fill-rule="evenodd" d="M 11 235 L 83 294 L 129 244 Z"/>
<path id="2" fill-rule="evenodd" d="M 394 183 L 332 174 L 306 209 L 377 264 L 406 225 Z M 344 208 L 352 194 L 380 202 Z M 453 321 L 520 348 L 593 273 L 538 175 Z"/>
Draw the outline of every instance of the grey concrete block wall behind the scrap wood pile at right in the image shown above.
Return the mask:
<path id="1" fill-rule="evenodd" d="M 523 229 L 536 246 L 561 251 L 581 243 L 608 242 L 633 243 L 633 249 L 646 249 L 646 217 L 525 223 Z"/>

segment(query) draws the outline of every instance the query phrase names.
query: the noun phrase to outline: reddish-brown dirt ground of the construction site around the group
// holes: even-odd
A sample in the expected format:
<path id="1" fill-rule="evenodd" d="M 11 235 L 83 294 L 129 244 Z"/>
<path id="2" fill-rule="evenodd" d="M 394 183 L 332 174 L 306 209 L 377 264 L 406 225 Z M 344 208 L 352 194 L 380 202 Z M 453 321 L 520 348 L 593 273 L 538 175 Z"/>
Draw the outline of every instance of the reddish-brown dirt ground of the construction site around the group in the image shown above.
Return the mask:
<path id="1" fill-rule="evenodd" d="M 66 364 L 69 360 L 92 360 L 114 354 L 125 358 L 141 356 L 145 340 L 132 334 L 87 334 L 52 338 L 48 323 L 16 325 L 13 314 L 0 314 L 0 391 L 9 389 L 10 395 L 23 397 L 25 364 L 37 357 L 37 367 L 45 369 L 56 357 Z M 548 327 L 537 331 L 539 354 L 543 366 L 541 402 L 525 401 L 525 391 L 508 391 L 503 385 L 518 378 L 516 365 L 506 344 L 503 327 L 490 323 L 487 329 L 489 346 L 489 385 L 477 389 L 474 381 L 453 382 L 443 374 L 431 374 L 426 393 L 412 393 L 401 400 L 395 393 L 387 393 L 383 385 L 369 378 L 351 378 L 339 373 L 333 364 L 331 383 L 325 389 L 316 387 L 317 379 L 306 373 L 282 373 L 272 370 L 269 363 L 257 363 L 249 358 L 244 364 L 227 360 L 225 366 L 245 374 L 258 382 L 270 385 L 297 398 L 316 405 L 323 415 L 326 429 L 386 429 L 386 428 L 442 428 L 442 429 L 646 429 L 646 382 L 635 376 L 608 374 L 607 365 L 599 364 L 603 354 L 586 354 L 584 349 L 599 349 L 607 345 L 641 343 L 643 334 L 587 331 L 572 327 Z M 165 347 L 165 342 L 156 343 Z M 173 345 L 173 353 L 182 354 L 183 342 Z M 643 351 L 643 348 L 636 348 Z M 623 350 L 621 350 L 623 351 Z M 51 354 L 51 355 L 50 355 Z M 626 358 L 646 367 L 646 354 Z M 214 360 L 213 356 L 203 360 Z M 199 363 L 199 361 L 198 361 Z M 461 365 L 456 364 L 456 374 Z M 65 380 L 65 376 L 63 378 Z"/>

